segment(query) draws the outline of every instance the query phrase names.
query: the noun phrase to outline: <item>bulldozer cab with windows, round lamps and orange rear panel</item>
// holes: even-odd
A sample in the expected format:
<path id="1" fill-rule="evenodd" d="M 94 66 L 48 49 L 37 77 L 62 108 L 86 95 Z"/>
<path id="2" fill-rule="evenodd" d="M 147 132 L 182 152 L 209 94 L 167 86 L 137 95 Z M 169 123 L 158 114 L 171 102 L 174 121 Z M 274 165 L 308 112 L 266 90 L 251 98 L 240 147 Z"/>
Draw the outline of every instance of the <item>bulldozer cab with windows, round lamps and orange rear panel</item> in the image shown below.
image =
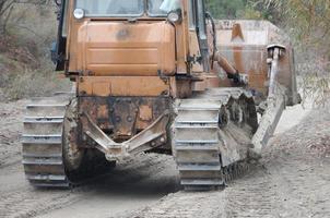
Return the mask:
<path id="1" fill-rule="evenodd" d="M 153 69 L 154 73 L 173 75 L 187 74 L 192 70 L 199 72 L 210 70 L 205 9 L 202 0 L 62 0 L 59 7 L 58 40 L 54 48 L 52 61 L 57 63 L 56 70 L 66 70 L 69 76 L 86 71 L 98 75 L 104 74 L 104 72 L 99 73 L 104 69 L 101 65 L 96 66 L 98 63 L 94 63 L 94 57 L 109 55 L 113 60 L 114 53 L 109 50 L 98 52 L 92 48 L 94 51 L 90 56 L 89 48 L 91 47 L 84 47 L 86 51 L 80 47 L 82 44 L 93 43 L 94 39 L 99 43 L 97 47 L 102 47 L 101 44 L 103 47 L 109 46 L 110 49 L 121 47 L 121 50 L 119 49 L 121 52 L 115 49 L 116 56 L 119 55 L 117 59 L 126 60 L 113 60 L 114 64 L 117 64 L 114 71 L 119 74 L 150 75 L 151 70 L 143 69 L 142 65 L 151 56 L 157 56 L 151 49 L 155 47 L 163 58 L 155 60 L 157 66 Z M 140 39 L 138 35 L 141 36 Z M 89 38 L 82 38 L 83 36 L 89 36 Z M 104 38 L 101 39 L 102 37 Z M 126 45 L 128 43 L 149 44 L 146 45 L 148 52 L 145 48 L 143 51 L 140 50 L 141 58 L 143 57 L 145 61 L 131 60 L 129 57 L 137 53 L 126 53 L 122 47 L 127 51 L 131 49 L 122 46 L 122 40 Z M 161 47 L 166 47 L 166 49 Z M 87 52 L 85 57 L 78 56 L 84 52 Z M 102 61 L 97 58 L 99 64 L 102 62 L 106 69 L 111 68 L 110 59 Z M 140 72 L 123 72 L 118 62 L 135 64 L 135 70 L 131 70 L 139 71 L 141 68 Z M 85 65 L 89 63 L 91 64 Z M 153 68 L 152 64 L 155 63 L 148 64 Z"/>

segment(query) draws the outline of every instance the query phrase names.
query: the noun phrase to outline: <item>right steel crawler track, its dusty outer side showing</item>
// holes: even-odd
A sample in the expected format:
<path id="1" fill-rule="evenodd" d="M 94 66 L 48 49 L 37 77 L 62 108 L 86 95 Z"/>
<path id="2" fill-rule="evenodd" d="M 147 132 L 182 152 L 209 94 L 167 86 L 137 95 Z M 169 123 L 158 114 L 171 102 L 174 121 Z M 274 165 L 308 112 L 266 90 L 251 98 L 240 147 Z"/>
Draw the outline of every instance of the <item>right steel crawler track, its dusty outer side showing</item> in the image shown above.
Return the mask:
<path id="1" fill-rule="evenodd" d="M 249 99 L 240 88 L 216 88 L 180 101 L 174 123 L 174 154 L 186 190 L 209 190 L 224 186 L 226 182 L 243 174 L 247 168 L 245 158 L 239 157 L 223 165 L 221 131 L 228 123 L 243 132 L 246 111 L 233 111 L 233 105 Z M 227 111 L 223 116 L 222 111 Z M 250 138 L 248 138 L 250 141 Z M 247 150 L 247 145 L 245 143 Z"/>

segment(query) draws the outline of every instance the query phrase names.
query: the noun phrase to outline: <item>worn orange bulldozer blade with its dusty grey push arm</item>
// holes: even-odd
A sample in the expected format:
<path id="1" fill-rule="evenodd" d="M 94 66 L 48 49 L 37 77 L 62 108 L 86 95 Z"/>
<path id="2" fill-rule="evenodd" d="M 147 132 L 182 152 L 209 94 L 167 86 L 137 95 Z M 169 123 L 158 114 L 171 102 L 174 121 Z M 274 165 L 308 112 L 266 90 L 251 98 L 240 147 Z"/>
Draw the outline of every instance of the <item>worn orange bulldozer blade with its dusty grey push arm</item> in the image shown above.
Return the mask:
<path id="1" fill-rule="evenodd" d="M 243 86 L 252 92 L 262 114 L 250 150 L 259 157 L 285 106 L 299 102 L 293 48 L 285 33 L 266 21 L 217 21 L 216 31 L 220 55 L 215 60 L 226 74 L 247 75 Z"/>

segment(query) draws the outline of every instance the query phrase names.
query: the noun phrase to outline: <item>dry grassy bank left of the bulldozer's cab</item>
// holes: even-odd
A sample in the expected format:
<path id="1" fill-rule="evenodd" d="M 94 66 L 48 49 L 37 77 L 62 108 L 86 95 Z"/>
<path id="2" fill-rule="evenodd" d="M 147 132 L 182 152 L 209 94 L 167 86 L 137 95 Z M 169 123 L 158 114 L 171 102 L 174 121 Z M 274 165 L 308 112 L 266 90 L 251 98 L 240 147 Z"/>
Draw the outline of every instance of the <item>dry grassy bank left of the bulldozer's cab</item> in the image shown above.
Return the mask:
<path id="1" fill-rule="evenodd" d="M 16 5 L 0 35 L 0 100 L 49 96 L 70 89 L 50 62 L 57 22 L 52 7 Z"/>

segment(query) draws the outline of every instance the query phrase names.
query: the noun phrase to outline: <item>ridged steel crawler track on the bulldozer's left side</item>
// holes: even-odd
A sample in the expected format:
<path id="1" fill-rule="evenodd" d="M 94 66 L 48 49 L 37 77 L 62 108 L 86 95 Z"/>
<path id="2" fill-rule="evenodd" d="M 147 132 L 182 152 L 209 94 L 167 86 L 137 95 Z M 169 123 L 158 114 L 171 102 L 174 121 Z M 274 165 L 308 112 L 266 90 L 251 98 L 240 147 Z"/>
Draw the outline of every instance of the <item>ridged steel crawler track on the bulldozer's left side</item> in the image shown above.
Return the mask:
<path id="1" fill-rule="evenodd" d="M 62 158 L 62 129 L 69 98 L 43 98 L 26 106 L 23 165 L 34 186 L 69 187 Z"/>

